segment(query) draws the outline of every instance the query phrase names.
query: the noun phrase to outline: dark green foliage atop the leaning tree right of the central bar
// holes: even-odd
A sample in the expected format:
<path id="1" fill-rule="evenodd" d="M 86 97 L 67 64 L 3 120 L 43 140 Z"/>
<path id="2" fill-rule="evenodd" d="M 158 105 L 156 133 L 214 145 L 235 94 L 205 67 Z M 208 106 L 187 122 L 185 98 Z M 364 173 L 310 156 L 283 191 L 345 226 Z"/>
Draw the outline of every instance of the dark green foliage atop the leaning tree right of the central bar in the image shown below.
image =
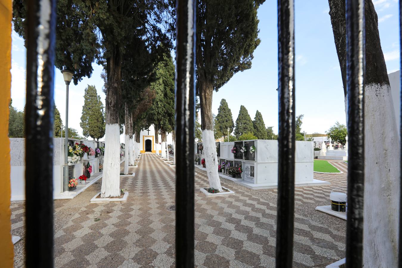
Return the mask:
<path id="1" fill-rule="evenodd" d="M 199 0 L 197 6 L 197 84 L 221 88 L 251 68 L 258 39 L 257 9 L 264 0 Z"/>

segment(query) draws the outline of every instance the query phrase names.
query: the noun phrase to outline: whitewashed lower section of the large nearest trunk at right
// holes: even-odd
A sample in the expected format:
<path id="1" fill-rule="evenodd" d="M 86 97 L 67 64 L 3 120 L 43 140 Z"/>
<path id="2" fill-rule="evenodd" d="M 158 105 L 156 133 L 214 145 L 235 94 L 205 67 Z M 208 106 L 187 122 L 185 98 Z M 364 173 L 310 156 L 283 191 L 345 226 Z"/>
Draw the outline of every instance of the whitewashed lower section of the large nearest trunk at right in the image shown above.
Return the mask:
<path id="1" fill-rule="evenodd" d="M 364 267 L 398 267 L 400 147 L 388 84 L 365 86 Z"/>

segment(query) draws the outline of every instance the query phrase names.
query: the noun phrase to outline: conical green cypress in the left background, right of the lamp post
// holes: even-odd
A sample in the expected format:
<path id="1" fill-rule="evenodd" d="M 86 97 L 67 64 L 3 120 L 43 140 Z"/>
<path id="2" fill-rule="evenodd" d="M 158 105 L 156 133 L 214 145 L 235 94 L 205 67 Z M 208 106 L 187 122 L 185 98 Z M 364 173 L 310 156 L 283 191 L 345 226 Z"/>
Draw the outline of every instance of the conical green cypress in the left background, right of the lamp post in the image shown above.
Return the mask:
<path id="1" fill-rule="evenodd" d="M 105 112 L 95 86 L 88 85 L 84 93 L 84 106 L 80 127 L 84 137 L 100 139 L 105 136 Z"/>

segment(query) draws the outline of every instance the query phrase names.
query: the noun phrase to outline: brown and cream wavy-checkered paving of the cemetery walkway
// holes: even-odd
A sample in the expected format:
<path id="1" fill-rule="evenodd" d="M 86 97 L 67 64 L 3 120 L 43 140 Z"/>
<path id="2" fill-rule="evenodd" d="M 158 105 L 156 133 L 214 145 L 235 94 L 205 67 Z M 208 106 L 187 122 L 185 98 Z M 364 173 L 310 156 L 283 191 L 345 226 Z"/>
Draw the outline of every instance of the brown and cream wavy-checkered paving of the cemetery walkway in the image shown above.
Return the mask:
<path id="1" fill-rule="evenodd" d="M 327 205 L 335 187 L 346 190 L 344 174 L 314 174 L 328 186 L 295 190 L 294 267 L 325 267 L 345 257 L 346 222 L 315 211 Z M 72 200 L 55 200 L 56 267 L 174 266 L 174 168 L 154 154 L 141 157 L 135 177 L 121 177 L 127 202 L 90 204 L 100 181 Z M 274 267 L 277 190 L 250 190 L 221 178 L 235 195 L 206 197 L 195 192 L 197 267 Z M 195 189 L 208 186 L 196 169 Z M 24 236 L 24 203 L 12 203 L 12 235 Z M 23 267 L 24 239 L 16 243 L 14 265 Z"/>

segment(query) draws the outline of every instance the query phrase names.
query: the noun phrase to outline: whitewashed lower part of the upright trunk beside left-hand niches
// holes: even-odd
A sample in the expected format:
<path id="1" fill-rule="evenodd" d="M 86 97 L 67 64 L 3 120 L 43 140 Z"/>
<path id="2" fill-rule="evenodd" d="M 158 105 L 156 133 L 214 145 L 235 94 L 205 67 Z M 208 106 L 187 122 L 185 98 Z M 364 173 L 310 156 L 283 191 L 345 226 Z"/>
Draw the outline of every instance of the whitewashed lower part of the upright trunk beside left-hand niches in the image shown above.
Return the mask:
<path id="1" fill-rule="evenodd" d="M 106 124 L 101 197 L 120 195 L 120 127 Z"/>

